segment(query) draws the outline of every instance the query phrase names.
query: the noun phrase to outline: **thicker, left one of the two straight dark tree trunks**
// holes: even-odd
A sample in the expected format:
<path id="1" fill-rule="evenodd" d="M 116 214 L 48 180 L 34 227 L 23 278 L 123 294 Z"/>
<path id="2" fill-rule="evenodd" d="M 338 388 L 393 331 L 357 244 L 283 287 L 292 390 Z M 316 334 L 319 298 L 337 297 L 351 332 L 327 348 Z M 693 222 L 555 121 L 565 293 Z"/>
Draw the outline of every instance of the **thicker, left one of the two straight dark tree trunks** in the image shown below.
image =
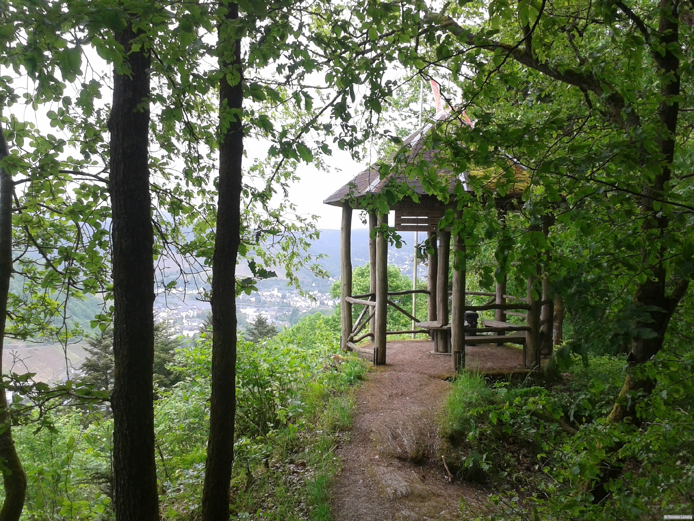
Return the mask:
<path id="1" fill-rule="evenodd" d="M 116 40 L 129 74 L 115 72 L 109 190 L 112 205 L 114 506 L 119 521 L 159 518 L 154 455 L 154 236 L 149 195 L 149 54 Z"/>

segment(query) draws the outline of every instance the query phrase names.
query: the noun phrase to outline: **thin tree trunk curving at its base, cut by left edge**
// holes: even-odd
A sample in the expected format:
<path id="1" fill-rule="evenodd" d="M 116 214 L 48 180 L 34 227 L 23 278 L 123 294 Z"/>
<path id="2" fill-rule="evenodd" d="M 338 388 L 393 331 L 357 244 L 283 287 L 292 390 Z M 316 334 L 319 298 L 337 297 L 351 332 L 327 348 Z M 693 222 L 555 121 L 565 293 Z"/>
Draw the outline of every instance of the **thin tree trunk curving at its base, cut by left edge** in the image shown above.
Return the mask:
<path id="1" fill-rule="evenodd" d="M 9 154 L 5 134 L 0 126 L 0 160 Z M 12 177 L 0 168 L 0 368 L 7 321 L 7 299 L 12 276 Z M 0 384 L 4 383 L 0 371 Z M 5 486 L 5 502 L 0 509 L 0 521 L 17 521 L 22 515 L 26 496 L 26 474 L 12 440 L 7 396 L 0 385 L 0 465 Z"/>

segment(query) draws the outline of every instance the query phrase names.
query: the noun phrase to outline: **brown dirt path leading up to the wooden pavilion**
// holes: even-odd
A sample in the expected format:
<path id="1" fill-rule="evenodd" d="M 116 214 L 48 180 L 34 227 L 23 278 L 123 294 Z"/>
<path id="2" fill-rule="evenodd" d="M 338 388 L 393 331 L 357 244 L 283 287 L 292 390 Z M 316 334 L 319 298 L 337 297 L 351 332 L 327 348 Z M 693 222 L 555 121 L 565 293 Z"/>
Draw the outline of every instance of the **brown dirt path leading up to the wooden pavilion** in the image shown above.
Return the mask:
<path id="1" fill-rule="evenodd" d="M 367 346 L 362 356 L 371 359 Z M 436 417 L 450 390 L 450 357 L 430 354 L 433 342 L 388 342 L 388 365 L 376 367 L 357 390 L 343 468 L 332 488 L 332 517 L 348 520 L 459 519 L 460 499 L 484 504 L 487 491 L 446 479 L 437 458 Z M 468 366 L 520 363 L 511 347 L 469 348 Z"/>

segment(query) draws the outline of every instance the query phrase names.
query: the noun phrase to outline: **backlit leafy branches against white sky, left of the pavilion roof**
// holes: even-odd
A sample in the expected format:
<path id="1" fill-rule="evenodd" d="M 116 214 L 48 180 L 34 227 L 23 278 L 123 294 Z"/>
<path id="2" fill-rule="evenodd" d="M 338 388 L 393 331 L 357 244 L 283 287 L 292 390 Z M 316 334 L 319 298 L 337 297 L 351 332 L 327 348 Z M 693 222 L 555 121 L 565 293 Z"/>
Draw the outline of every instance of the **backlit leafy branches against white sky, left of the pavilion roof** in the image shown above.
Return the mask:
<path id="1" fill-rule="evenodd" d="M 392 42 L 370 41 L 367 51 L 363 40 L 375 28 L 329 1 L 273 8 L 246 3 L 234 28 L 208 4 L 163 9 L 165 15 L 149 4 L 134 13 L 123 3 L 87 8 L 80 1 L 19 1 L 4 13 L 0 64 L 11 73 L 0 78 L 0 113 L 11 153 L 2 166 L 22 187 L 13 217 L 14 246 L 23 252 L 15 265 L 21 284 L 10 295 L 9 336 L 67 342 L 82 333 L 75 322 L 86 324 L 83 317 L 65 316 L 70 301 L 96 292 L 110 300 L 109 115 L 101 100 L 108 79 L 92 73 L 128 71 L 115 41 L 128 23 L 137 27 L 136 46 L 157 57 L 150 71 L 149 149 L 159 286 L 171 290 L 189 282 L 190 274 L 208 281 L 217 218 L 216 129 L 235 116 L 219 115 L 219 78 L 231 72 L 218 63 L 237 37 L 245 42 L 244 76 L 253 78 L 244 82 L 248 102 L 239 117 L 248 138 L 267 144 L 267 154 L 244 172 L 239 259 L 253 276 L 238 280 L 237 290 L 253 290 L 257 281 L 274 276 L 274 266 L 295 285 L 301 268 L 327 276 L 316 263 L 320 256 L 308 253 L 319 231 L 312 216 L 296 213 L 287 185 L 298 179 L 302 162 L 325 168 L 321 158 L 331 147 L 359 155 L 392 92 L 393 82 L 383 77 L 395 59 Z M 374 16 L 396 19 L 391 10 L 375 10 Z M 230 34 L 218 49 L 221 27 Z M 364 129 L 353 124 L 353 106 L 362 110 L 355 85 L 368 91 L 359 94 Z M 22 106 L 40 117 L 22 120 Z M 37 120 L 47 121 L 46 128 Z M 164 267 L 167 262 L 176 267 Z M 103 330 L 111 313 L 105 306 L 87 321 Z"/>

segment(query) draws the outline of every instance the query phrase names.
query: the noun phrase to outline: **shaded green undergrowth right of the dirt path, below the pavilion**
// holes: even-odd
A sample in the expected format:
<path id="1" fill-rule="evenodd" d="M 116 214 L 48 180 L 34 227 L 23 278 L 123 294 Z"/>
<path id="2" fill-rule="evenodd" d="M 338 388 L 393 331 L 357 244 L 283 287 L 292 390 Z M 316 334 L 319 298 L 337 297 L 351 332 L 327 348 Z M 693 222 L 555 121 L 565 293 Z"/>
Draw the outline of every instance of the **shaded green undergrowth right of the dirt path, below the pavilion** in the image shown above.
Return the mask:
<path id="1" fill-rule="evenodd" d="M 623 358 L 591 357 L 545 386 L 461 374 L 441 425 L 446 461 L 460 477 L 495 485 L 493 519 L 616 521 L 686 512 L 694 490 L 694 429 L 685 419 L 692 363 L 691 352 L 670 351 L 643 366 L 657 387 L 632 398 L 638 426 L 606 422 L 622 386 Z M 602 465 L 620 474 L 609 480 L 609 498 L 592 504 L 582 483 L 595 483 Z M 479 512 L 466 515 L 477 519 Z"/>

